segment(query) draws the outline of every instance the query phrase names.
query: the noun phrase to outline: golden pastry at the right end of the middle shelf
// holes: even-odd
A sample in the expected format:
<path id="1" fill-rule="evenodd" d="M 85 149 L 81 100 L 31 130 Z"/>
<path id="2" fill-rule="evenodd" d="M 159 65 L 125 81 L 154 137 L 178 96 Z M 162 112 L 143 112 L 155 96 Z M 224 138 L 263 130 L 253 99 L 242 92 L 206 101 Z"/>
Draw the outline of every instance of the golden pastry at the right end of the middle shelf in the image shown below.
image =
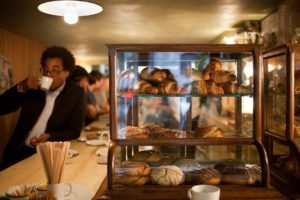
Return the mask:
<path id="1" fill-rule="evenodd" d="M 199 138 L 223 138 L 224 133 L 216 126 L 199 126 L 196 129 L 195 137 Z"/>

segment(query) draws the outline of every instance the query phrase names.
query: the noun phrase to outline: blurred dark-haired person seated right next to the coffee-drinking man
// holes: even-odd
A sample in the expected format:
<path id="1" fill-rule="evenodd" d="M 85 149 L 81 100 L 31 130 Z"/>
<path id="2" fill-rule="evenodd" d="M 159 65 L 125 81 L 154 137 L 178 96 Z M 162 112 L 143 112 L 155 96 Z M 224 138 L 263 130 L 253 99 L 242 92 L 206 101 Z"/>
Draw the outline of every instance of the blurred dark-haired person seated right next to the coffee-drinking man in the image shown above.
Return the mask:
<path id="1" fill-rule="evenodd" d="M 89 73 L 82 66 L 76 65 L 74 71 L 69 77 L 69 80 L 79 85 L 85 91 L 86 97 L 86 117 L 85 125 L 98 120 L 100 108 L 97 105 L 94 94 L 92 93 L 92 86 L 90 82 L 94 82 Z"/>

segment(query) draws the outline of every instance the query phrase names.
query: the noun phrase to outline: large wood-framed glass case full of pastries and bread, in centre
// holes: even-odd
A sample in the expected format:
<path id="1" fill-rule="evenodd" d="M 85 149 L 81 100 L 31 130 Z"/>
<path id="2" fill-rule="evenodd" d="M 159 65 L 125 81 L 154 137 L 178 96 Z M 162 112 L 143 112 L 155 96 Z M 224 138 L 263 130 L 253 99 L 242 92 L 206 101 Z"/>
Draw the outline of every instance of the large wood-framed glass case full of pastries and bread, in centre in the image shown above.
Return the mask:
<path id="1" fill-rule="evenodd" d="M 257 45 L 109 45 L 108 189 L 268 186 L 261 55 Z"/>

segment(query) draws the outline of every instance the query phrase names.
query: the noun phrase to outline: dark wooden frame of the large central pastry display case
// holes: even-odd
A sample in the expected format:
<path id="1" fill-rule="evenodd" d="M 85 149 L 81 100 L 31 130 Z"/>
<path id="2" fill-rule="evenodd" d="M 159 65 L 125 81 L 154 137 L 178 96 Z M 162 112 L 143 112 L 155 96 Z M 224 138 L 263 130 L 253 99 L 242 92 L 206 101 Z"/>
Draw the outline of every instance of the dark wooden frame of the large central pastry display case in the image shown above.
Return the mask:
<path id="1" fill-rule="evenodd" d="M 135 187 L 122 189 L 116 189 L 113 185 L 114 180 L 114 151 L 116 146 L 126 145 L 254 145 L 258 151 L 260 158 L 261 171 L 262 171 L 262 186 L 269 188 L 270 175 L 269 164 L 267 154 L 263 145 L 263 68 L 262 68 L 262 48 L 260 45 L 193 45 L 193 44 L 151 44 L 151 45 L 137 45 L 137 44 L 122 44 L 122 45 L 108 45 L 109 47 L 109 66 L 110 66 L 110 133 L 112 143 L 109 147 L 108 153 L 108 193 L 113 196 L 118 192 L 136 190 L 141 194 L 147 194 L 153 192 L 153 190 L 168 191 L 168 190 L 182 190 L 186 194 L 187 187 L 179 185 L 173 188 L 164 187 Z M 118 139 L 117 137 L 117 86 L 116 86 L 116 63 L 117 52 L 228 52 L 228 53 L 240 53 L 240 52 L 252 52 L 254 62 L 254 80 L 253 80 L 253 137 L 252 138 L 214 138 L 214 139 Z M 190 119 L 188 119 L 190 120 Z M 191 122 L 187 122 L 191 123 Z M 236 186 L 237 188 L 251 188 L 251 186 Z M 253 186 L 252 186 L 253 187 Z M 230 188 L 230 186 L 225 186 Z"/>

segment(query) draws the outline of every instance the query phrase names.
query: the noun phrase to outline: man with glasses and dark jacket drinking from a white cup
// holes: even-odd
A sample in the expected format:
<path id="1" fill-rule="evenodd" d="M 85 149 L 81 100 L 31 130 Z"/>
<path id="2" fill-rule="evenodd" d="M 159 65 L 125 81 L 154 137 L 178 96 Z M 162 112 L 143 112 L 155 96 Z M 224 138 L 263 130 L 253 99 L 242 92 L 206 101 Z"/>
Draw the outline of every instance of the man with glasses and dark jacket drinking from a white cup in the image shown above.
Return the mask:
<path id="1" fill-rule="evenodd" d="M 40 142 L 78 138 L 85 116 L 84 91 L 67 81 L 75 65 L 73 54 L 64 47 L 44 50 L 41 74 L 53 79 L 49 91 L 40 89 L 40 77 L 28 76 L 1 95 L 1 114 L 18 109 L 19 119 L 4 150 L 0 169 L 34 153 Z"/>

